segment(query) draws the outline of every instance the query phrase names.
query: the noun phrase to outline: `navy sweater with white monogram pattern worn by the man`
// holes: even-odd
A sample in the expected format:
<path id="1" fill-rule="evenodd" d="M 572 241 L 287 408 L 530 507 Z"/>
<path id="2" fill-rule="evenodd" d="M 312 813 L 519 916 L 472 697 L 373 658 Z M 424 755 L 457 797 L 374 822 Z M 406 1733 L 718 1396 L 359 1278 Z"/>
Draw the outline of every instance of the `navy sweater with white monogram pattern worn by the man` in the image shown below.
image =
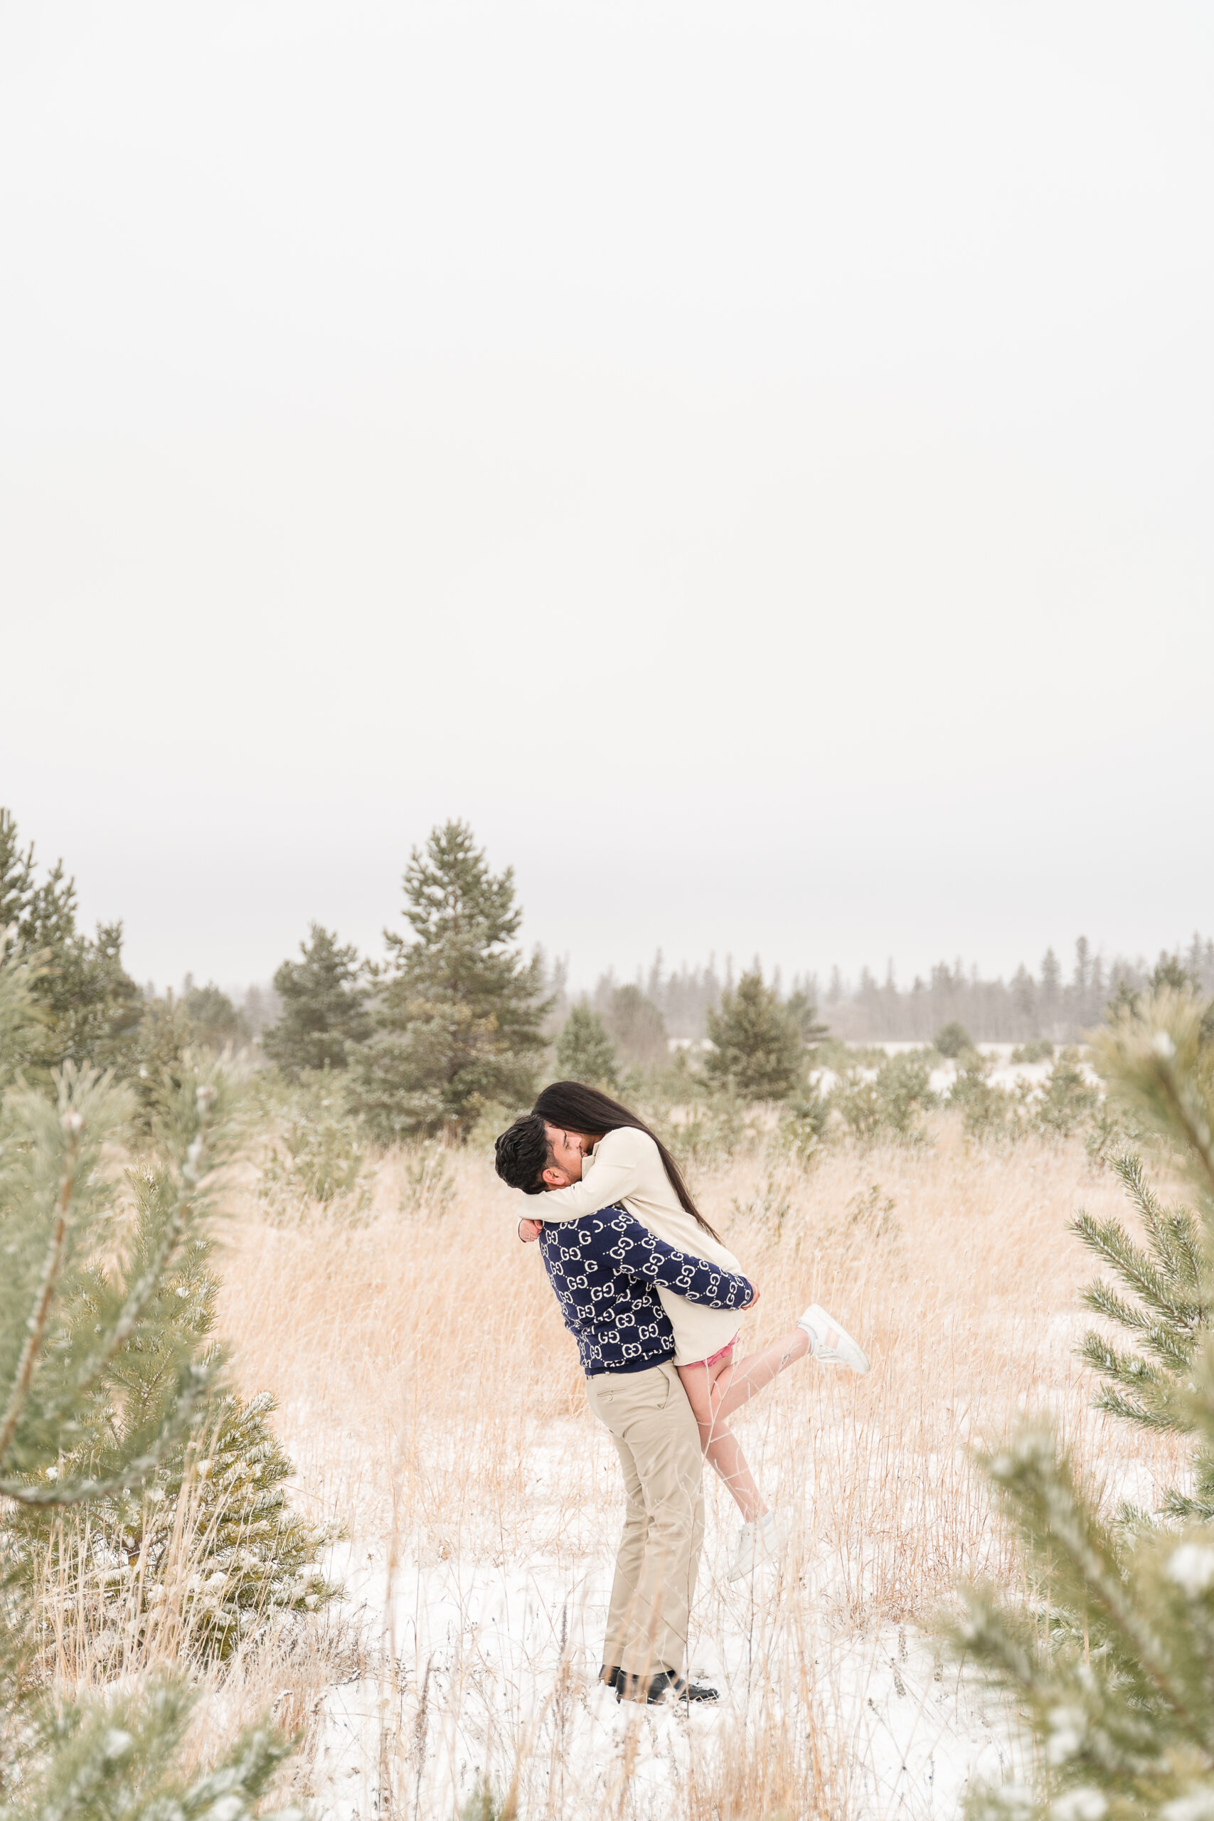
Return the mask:
<path id="1" fill-rule="evenodd" d="M 675 1251 L 619 1206 L 544 1227 L 539 1249 L 588 1377 L 672 1358 L 675 1337 L 659 1284 L 739 1315 L 754 1295 L 748 1278 Z"/>

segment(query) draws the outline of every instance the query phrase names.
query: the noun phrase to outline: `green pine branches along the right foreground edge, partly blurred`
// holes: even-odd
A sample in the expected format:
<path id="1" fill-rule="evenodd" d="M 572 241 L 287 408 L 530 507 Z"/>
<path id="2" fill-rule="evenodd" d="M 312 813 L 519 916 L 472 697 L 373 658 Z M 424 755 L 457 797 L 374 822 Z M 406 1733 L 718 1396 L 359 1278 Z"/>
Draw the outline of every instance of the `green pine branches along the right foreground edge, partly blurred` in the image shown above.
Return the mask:
<path id="1" fill-rule="evenodd" d="M 1094 1051 L 1110 1094 L 1159 1142 L 1192 1211 L 1165 1209 L 1134 1160 L 1123 1182 L 1147 1246 L 1118 1222 L 1079 1233 L 1112 1266 L 1088 1306 L 1136 1333 L 1141 1351 L 1085 1353 L 1107 1380 L 1101 1402 L 1148 1428 L 1194 1439 L 1198 1497 L 1168 1501 L 1170 1522 L 1114 1528 L 1048 1429 L 983 1457 L 1036 1592 L 1008 1604 L 966 1593 L 956 1646 L 1003 1686 L 1037 1745 L 1037 1783 L 979 1788 L 970 1812 L 1052 1821 L 1201 1821 L 1214 1814 L 1214 1051 L 1205 1005 L 1161 987 L 1121 1007 Z"/>

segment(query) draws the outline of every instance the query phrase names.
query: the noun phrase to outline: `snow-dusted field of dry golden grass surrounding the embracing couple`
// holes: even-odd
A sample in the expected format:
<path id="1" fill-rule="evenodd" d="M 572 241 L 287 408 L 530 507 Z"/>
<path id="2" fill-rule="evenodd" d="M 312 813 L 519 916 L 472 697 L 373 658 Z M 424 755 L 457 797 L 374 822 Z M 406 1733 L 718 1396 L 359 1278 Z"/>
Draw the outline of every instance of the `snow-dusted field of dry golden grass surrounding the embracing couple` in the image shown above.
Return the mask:
<path id="1" fill-rule="evenodd" d="M 357 1224 L 271 1222 L 249 1195 L 220 1266 L 240 1389 L 275 1393 L 293 1497 L 344 1524 L 351 1604 L 215 1675 L 195 1750 L 275 1706 L 306 1728 L 297 1792 L 342 1821 L 450 1821 L 479 1775 L 528 1817 L 892 1810 L 870 1694 L 885 1677 L 908 1714 L 917 1699 L 912 1732 L 937 1750 L 946 1673 L 914 1639 L 959 1577 L 1016 1581 L 970 1446 L 1048 1411 L 1110 1499 L 1150 1504 L 1183 1475 L 1168 1440 L 1127 1450 L 1074 1357 L 1090 1269 L 1067 1222 L 1125 1213 L 1081 1145 L 970 1153 L 943 1120 L 925 1151 L 704 1171 L 704 1213 L 763 1286 L 744 1342 L 817 1298 L 874 1369 L 797 1366 L 737 1419 L 799 1528 L 752 1599 L 724 1579 L 735 1517 L 710 1488 L 693 1666 L 721 1675 L 723 1708 L 615 1710 L 593 1677 L 619 1475 L 539 1249 L 513 1236 L 522 1202 L 462 1153 L 450 1206 L 402 1213 L 410 1167 L 380 1164 Z"/>

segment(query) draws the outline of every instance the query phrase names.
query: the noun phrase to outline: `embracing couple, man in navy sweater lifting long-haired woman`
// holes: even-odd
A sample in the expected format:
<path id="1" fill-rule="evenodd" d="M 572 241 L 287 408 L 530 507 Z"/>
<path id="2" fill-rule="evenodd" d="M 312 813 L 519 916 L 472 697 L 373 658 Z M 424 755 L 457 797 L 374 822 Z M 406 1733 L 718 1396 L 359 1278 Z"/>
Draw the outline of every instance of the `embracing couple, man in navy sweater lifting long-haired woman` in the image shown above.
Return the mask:
<path id="1" fill-rule="evenodd" d="M 792 1517 L 768 1510 L 728 1419 L 806 1355 L 857 1373 L 868 1358 L 812 1304 L 790 1333 L 737 1360 L 757 1286 L 695 1207 L 666 1145 L 593 1087 L 546 1087 L 499 1136 L 497 1175 L 544 1196 L 539 1218 L 519 1222 L 519 1238 L 539 1240 L 590 1408 L 624 1470 L 602 1681 L 622 1701 L 715 1701 L 715 1688 L 683 1673 L 704 1528 L 703 1457 L 743 1517 L 730 1572 L 739 1581 L 781 1551 Z"/>

